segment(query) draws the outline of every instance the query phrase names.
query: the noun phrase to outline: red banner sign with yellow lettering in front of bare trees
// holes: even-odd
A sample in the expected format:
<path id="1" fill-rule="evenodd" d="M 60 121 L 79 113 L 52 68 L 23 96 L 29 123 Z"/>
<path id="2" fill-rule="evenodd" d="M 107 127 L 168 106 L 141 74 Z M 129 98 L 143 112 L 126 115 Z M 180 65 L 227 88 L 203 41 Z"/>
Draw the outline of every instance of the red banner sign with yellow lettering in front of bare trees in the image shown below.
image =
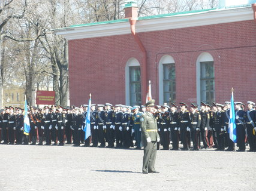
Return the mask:
<path id="1" fill-rule="evenodd" d="M 38 105 L 54 105 L 55 91 L 37 91 L 36 101 Z"/>

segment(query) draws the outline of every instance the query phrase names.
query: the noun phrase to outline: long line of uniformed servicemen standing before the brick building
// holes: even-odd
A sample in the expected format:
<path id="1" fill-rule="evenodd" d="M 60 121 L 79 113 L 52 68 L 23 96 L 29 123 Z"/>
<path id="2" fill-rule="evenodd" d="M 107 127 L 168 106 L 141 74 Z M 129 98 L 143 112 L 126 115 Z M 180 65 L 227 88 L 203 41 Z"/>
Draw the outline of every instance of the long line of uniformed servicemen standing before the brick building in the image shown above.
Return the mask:
<path id="1" fill-rule="evenodd" d="M 200 104 L 200 110 L 191 103 L 188 110 L 186 103 L 179 107 L 171 103 L 154 106 L 153 116 L 157 121 L 160 145 L 164 150 L 215 150 L 233 151 L 234 143 L 230 140 L 228 124 L 230 102 L 224 105 L 213 103 Z M 255 103 L 234 102 L 235 123 L 237 130 L 237 151 L 244 152 L 249 143 L 248 152 L 256 151 L 256 110 Z M 45 106 L 43 109 L 29 107 L 28 118 L 30 132 L 24 134 L 23 109 L 5 107 L 0 111 L 0 131 L 2 144 L 59 145 L 110 147 L 141 149 L 141 115 L 146 113 L 146 106 L 124 106 L 110 103 L 91 104 L 91 136 L 84 140 L 85 119 L 88 105 L 80 107 Z M 149 130 L 147 130 L 149 131 Z M 143 135 L 143 134 L 142 134 Z M 192 145 L 191 145 L 192 140 Z M 115 144 L 116 143 L 116 144 Z M 171 144 L 170 144 L 171 143 Z M 183 145 L 179 148 L 179 143 Z M 201 144 L 203 143 L 203 144 Z"/>

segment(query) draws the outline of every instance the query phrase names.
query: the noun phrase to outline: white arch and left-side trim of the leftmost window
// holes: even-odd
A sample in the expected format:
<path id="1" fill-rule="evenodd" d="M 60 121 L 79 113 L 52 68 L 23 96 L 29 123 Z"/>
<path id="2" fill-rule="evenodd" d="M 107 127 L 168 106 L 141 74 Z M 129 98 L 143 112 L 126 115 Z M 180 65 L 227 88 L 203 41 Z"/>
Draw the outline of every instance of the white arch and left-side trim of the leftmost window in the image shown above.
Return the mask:
<path id="1" fill-rule="evenodd" d="M 140 63 L 136 58 L 129 58 L 125 65 L 125 104 L 129 106 L 129 67 L 140 66 Z"/>

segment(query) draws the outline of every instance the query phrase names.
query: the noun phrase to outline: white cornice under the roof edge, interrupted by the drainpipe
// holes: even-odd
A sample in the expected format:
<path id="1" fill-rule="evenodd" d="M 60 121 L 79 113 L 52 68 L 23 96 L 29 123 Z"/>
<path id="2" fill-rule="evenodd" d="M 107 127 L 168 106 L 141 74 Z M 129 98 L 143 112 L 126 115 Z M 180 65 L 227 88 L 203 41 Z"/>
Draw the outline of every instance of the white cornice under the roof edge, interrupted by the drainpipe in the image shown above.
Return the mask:
<path id="1" fill-rule="evenodd" d="M 179 29 L 253 19 L 254 17 L 251 7 L 230 8 L 201 13 L 178 14 L 170 17 L 138 20 L 136 23 L 136 31 L 150 32 L 156 30 Z M 55 32 L 57 35 L 64 36 L 64 38 L 67 40 L 124 35 L 131 33 L 128 21 L 90 26 L 68 27 L 64 29 L 55 29 Z"/>

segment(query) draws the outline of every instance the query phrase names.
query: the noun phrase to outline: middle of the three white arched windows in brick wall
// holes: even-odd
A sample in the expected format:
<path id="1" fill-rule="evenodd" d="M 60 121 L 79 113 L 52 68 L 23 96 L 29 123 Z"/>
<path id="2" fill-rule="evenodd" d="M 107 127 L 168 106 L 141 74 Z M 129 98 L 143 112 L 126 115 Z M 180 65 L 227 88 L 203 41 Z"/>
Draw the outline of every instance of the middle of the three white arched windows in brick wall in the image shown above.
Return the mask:
<path id="1" fill-rule="evenodd" d="M 175 61 L 169 55 L 162 56 L 159 61 L 159 104 L 176 101 Z"/>

